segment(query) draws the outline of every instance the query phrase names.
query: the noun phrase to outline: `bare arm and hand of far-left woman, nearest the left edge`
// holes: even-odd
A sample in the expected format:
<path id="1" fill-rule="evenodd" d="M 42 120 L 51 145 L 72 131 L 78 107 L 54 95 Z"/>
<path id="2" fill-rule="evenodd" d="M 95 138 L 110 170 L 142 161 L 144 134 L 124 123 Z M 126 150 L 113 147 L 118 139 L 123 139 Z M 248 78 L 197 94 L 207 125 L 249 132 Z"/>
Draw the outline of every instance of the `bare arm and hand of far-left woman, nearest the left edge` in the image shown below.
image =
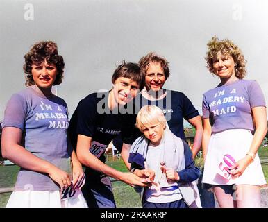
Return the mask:
<path id="1" fill-rule="evenodd" d="M 60 188 L 69 187 L 71 181 L 68 173 L 62 171 L 46 160 L 33 155 L 20 145 L 22 130 L 15 127 L 4 127 L 2 132 L 2 154 L 15 164 L 31 171 L 47 173 Z"/>

